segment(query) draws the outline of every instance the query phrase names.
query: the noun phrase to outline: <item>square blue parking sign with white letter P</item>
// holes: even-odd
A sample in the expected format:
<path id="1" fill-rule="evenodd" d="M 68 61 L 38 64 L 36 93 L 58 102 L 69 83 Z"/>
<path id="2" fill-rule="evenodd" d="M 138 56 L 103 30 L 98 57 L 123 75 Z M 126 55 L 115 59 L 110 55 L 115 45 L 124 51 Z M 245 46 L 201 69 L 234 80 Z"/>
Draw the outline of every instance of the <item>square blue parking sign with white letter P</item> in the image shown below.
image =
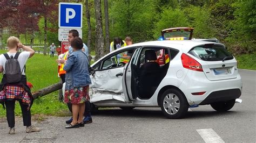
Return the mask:
<path id="1" fill-rule="evenodd" d="M 83 5 L 59 3 L 59 28 L 82 28 Z"/>

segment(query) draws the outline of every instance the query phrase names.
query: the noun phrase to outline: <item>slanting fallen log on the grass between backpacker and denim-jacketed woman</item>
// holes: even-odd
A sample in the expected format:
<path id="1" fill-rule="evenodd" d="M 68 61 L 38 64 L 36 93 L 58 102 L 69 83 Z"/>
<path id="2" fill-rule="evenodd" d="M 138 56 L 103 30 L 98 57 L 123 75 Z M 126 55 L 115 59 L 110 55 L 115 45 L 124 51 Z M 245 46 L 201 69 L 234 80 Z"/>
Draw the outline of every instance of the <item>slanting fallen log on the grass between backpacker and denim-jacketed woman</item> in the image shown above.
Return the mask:
<path id="1" fill-rule="evenodd" d="M 34 99 L 36 99 L 38 97 L 48 95 L 51 92 L 57 91 L 59 89 L 62 89 L 62 83 L 60 83 L 60 82 L 56 83 L 56 84 L 53 84 L 53 85 L 50 85 L 49 87 L 43 88 L 41 90 L 32 92 L 32 96 L 33 96 Z"/>

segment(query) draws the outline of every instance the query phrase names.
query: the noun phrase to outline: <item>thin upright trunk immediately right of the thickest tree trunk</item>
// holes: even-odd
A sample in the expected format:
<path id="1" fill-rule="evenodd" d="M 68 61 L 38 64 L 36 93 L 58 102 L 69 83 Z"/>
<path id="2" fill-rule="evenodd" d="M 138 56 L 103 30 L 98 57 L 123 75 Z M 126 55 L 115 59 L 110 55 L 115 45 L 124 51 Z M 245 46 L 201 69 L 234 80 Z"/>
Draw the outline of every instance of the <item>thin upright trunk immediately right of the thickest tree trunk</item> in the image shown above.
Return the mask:
<path id="1" fill-rule="evenodd" d="M 104 12 L 105 12 L 105 33 L 106 33 L 106 48 L 105 53 L 109 53 L 110 43 L 109 43 L 109 4 L 107 0 L 104 0 Z"/>

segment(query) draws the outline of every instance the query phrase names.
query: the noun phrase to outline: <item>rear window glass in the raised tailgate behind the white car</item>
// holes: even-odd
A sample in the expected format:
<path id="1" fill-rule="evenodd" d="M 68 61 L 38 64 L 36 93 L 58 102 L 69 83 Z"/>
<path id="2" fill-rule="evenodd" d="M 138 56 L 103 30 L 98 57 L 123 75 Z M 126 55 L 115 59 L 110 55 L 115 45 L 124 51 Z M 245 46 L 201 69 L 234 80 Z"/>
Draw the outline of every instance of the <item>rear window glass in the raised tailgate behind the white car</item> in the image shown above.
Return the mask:
<path id="1" fill-rule="evenodd" d="M 181 38 L 183 39 L 173 39 L 173 38 Z M 164 33 L 165 40 L 188 40 L 190 38 L 190 31 L 170 31 Z"/>

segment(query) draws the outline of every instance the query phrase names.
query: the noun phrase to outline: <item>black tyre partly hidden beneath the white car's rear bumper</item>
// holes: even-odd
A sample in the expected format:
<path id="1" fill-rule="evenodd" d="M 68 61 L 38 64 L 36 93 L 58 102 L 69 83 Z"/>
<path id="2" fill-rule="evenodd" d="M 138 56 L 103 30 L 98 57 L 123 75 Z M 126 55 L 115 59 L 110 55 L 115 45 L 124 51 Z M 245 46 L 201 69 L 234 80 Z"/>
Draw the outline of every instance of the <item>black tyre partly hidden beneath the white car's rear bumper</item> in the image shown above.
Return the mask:
<path id="1" fill-rule="evenodd" d="M 232 99 L 231 101 L 227 101 L 227 102 L 212 103 L 211 106 L 216 111 L 224 112 L 233 108 L 234 104 L 235 104 L 235 99 Z"/>

